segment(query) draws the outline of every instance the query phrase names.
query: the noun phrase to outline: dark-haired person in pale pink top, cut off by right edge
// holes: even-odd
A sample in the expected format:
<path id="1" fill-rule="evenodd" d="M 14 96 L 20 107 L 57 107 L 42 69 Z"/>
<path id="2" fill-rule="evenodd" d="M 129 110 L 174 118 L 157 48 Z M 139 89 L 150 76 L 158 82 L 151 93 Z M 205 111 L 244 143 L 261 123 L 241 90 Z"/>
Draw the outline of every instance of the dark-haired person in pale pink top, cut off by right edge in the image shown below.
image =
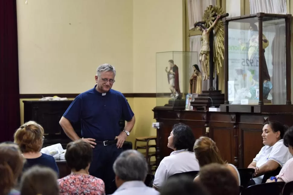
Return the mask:
<path id="1" fill-rule="evenodd" d="M 288 147 L 289 152 L 293 155 L 293 126 L 291 126 L 283 137 L 284 145 Z M 280 173 L 276 177 L 271 177 L 266 183 L 284 181 L 288 183 L 293 181 L 293 158 L 290 158 L 282 167 Z"/>

